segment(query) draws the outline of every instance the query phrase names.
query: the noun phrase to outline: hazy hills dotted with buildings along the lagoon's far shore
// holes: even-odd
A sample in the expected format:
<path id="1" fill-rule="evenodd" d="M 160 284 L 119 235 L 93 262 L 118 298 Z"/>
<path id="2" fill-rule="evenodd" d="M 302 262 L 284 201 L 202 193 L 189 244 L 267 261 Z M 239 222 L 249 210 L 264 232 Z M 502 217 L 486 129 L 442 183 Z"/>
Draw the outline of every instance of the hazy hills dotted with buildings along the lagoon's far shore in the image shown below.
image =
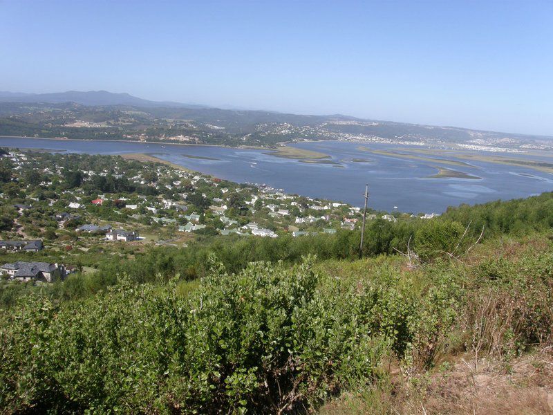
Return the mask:
<path id="1" fill-rule="evenodd" d="M 552 137 L 437 127 L 343 115 L 308 116 L 155 102 L 126 93 L 0 92 L 0 136 L 263 145 L 359 140 L 426 145 L 552 149 Z"/>

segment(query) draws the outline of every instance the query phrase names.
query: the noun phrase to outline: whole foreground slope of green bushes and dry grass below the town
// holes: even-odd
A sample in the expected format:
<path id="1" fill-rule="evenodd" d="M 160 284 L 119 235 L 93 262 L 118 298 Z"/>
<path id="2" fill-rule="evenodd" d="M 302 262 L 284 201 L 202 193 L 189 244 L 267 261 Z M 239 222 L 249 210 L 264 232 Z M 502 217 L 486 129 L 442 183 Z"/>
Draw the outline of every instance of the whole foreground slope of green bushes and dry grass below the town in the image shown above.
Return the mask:
<path id="1" fill-rule="evenodd" d="M 306 257 L 243 268 L 242 260 L 255 259 L 251 252 L 236 262 L 221 255 L 221 262 L 212 250 L 200 280 L 172 278 L 171 266 L 165 273 L 151 268 L 152 275 L 129 267 L 113 286 L 72 301 L 26 295 L 1 316 L 0 407 L 290 413 L 326 403 L 321 410 L 489 410 L 493 400 L 475 391 L 485 386 L 478 378 L 483 358 L 503 372 L 514 372 L 509 365 L 523 358 L 543 379 L 551 371 L 552 201 L 543 194 L 421 221 L 409 248 L 395 245 L 409 258 Z M 489 233 L 476 243 L 480 226 Z M 271 243 L 277 241 L 266 242 L 259 257 L 285 257 L 285 247 L 271 251 Z M 448 389 L 438 375 L 455 379 L 461 358 L 476 380 L 453 394 L 455 380 Z M 551 383 L 534 383 L 509 385 L 515 389 L 505 396 L 518 391 L 532 399 L 512 407 L 505 400 L 504 412 L 550 411 Z"/>

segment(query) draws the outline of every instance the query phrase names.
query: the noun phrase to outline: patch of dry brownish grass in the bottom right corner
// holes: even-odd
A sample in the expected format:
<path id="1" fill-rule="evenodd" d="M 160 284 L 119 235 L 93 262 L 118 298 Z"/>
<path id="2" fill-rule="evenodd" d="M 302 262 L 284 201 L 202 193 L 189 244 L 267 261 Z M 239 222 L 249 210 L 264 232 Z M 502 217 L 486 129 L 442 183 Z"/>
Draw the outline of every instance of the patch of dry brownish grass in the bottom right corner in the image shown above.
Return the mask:
<path id="1" fill-rule="evenodd" d="M 478 369 L 475 369 L 478 368 Z M 511 365 L 458 356 L 447 370 L 393 380 L 359 394 L 344 394 L 320 414 L 545 415 L 553 414 L 553 356 L 542 351 Z"/>

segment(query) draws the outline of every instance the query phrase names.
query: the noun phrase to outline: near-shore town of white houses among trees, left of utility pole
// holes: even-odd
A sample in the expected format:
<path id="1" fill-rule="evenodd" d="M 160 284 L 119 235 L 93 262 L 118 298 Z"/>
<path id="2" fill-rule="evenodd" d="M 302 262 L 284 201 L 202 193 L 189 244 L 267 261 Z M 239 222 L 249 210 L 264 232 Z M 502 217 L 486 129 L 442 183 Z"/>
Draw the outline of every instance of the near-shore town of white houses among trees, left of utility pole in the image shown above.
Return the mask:
<path id="1" fill-rule="evenodd" d="M 359 229 L 359 208 L 121 156 L 3 150 L 0 271 L 53 282 L 106 257 L 216 237 L 278 238 Z M 160 160 L 161 161 L 161 160 Z M 413 215 L 369 211 L 368 221 Z M 424 219 L 432 215 L 421 216 Z M 3 264 L 3 265 L 1 265 Z"/>

